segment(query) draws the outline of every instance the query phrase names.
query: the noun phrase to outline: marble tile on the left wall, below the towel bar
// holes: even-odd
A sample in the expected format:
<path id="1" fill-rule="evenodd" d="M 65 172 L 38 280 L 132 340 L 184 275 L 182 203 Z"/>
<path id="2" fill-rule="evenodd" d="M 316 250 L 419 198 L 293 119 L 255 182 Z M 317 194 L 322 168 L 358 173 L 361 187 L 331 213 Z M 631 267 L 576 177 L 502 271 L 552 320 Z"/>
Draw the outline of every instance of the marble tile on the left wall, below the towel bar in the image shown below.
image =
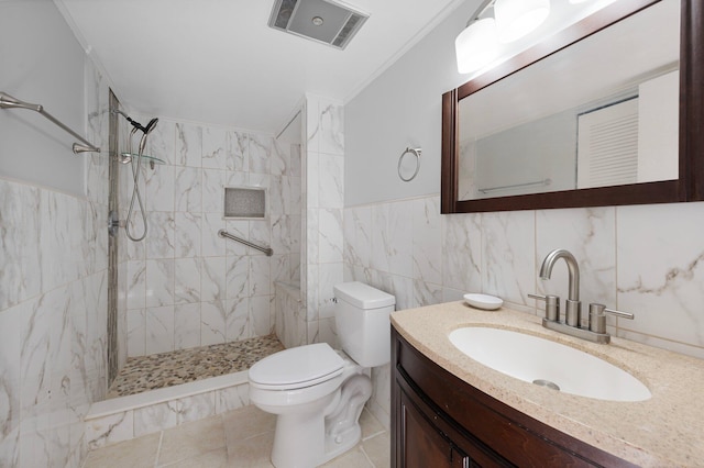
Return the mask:
<path id="1" fill-rule="evenodd" d="M 90 60 L 85 82 L 87 140 L 107 148 Z M 0 178 L 0 466 L 79 467 L 82 416 L 107 390 L 108 158 L 79 157 L 86 197 Z"/>

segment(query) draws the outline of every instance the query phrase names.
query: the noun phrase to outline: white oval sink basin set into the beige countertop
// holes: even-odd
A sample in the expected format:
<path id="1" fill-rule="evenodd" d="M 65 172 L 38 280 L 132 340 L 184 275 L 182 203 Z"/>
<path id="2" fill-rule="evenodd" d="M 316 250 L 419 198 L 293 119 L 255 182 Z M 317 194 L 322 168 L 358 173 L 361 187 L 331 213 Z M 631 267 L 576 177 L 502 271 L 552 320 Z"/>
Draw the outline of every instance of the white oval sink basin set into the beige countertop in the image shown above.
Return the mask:
<path id="1" fill-rule="evenodd" d="M 549 339 L 483 326 L 458 328 L 449 337 L 472 359 L 526 382 L 598 400 L 642 401 L 651 395 L 627 371 Z"/>

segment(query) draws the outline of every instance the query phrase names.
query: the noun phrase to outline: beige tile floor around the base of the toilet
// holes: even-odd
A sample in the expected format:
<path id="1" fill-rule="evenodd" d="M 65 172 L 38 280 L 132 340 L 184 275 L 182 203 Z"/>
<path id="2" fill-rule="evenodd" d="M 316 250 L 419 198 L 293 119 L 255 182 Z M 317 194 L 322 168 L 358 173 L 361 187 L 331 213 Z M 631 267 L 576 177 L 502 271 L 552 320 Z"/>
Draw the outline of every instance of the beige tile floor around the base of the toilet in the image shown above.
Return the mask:
<path id="1" fill-rule="evenodd" d="M 84 468 L 271 468 L 276 417 L 250 405 L 88 453 Z M 336 468 L 391 465 L 389 434 L 366 409 L 362 441 L 326 464 Z"/>

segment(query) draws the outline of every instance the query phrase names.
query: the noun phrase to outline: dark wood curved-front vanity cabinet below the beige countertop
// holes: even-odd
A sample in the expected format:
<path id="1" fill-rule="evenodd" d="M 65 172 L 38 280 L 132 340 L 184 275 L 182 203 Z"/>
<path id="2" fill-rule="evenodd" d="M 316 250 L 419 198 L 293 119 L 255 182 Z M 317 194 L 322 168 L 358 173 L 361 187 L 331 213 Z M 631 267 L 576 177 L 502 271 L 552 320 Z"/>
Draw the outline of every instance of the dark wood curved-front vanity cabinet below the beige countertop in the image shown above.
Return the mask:
<path id="1" fill-rule="evenodd" d="M 392 327 L 393 467 L 632 467 L 481 392 Z"/>

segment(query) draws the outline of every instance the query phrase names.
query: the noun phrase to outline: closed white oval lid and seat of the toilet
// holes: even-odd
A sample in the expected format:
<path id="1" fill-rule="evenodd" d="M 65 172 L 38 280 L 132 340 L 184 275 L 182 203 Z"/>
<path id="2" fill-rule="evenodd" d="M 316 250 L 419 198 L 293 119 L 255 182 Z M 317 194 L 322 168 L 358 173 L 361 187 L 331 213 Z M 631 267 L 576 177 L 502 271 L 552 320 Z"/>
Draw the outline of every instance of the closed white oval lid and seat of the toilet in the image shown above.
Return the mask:
<path id="1" fill-rule="evenodd" d="M 333 379 L 344 360 L 327 343 L 284 349 L 250 368 L 250 385 L 265 390 L 295 390 Z"/>

